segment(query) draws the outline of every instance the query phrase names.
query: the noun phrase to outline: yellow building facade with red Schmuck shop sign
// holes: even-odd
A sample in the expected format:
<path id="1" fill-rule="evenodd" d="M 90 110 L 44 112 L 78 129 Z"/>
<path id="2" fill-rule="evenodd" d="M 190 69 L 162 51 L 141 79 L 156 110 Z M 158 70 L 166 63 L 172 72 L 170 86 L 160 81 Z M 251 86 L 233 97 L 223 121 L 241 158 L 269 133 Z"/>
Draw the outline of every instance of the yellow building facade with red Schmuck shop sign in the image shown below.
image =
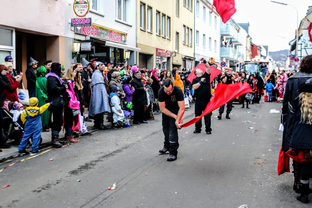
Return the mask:
<path id="1" fill-rule="evenodd" d="M 193 0 L 137 0 L 140 68 L 193 68 Z"/>

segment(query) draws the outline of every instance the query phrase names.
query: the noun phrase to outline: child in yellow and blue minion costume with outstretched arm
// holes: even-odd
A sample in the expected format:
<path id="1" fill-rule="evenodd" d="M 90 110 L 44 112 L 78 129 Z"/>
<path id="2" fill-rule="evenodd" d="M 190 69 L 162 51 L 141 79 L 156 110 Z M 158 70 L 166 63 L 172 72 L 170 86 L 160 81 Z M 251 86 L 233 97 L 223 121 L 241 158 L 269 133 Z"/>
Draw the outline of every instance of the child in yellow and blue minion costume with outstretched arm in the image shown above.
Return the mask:
<path id="1" fill-rule="evenodd" d="M 21 120 L 25 124 L 22 142 L 18 146 L 18 152 L 21 154 L 27 153 L 26 146 L 29 138 L 32 138 L 32 155 L 35 155 L 38 152 L 42 131 L 41 114 L 48 109 L 51 103 L 42 105 L 40 108 L 38 107 L 38 104 L 39 101 L 37 98 L 30 98 L 30 106 L 23 110 L 21 115 Z"/>

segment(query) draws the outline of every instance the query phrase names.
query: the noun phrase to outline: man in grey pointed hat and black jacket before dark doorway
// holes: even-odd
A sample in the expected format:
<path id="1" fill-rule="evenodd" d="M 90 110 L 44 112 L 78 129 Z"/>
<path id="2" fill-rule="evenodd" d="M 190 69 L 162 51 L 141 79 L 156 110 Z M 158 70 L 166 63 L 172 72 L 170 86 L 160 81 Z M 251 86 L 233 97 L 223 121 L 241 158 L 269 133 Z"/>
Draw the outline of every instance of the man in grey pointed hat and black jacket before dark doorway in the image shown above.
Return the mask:
<path id="1" fill-rule="evenodd" d="M 29 93 L 29 98 L 35 97 L 36 89 L 36 69 L 38 67 L 38 61 L 34 60 L 32 57 L 29 58 L 30 63 L 27 68 L 25 75 L 27 80 L 27 89 Z"/>

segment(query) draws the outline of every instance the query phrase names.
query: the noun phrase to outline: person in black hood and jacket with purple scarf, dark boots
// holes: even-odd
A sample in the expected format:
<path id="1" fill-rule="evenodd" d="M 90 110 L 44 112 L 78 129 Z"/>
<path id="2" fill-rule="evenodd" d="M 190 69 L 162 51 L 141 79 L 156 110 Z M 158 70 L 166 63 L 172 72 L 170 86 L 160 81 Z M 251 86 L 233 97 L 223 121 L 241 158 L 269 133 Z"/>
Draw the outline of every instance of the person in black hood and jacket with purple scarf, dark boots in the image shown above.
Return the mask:
<path id="1" fill-rule="evenodd" d="M 53 147 L 60 148 L 65 141 L 59 140 L 59 133 L 63 126 L 63 108 L 65 100 L 63 95 L 68 88 L 64 81 L 61 80 L 61 64 L 58 62 L 52 63 L 51 72 L 46 75 L 46 90 L 48 92 L 47 102 L 52 104 L 49 107 L 50 112 L 53 114 L 53 122 L 51 126 L 51 144 Z"/>

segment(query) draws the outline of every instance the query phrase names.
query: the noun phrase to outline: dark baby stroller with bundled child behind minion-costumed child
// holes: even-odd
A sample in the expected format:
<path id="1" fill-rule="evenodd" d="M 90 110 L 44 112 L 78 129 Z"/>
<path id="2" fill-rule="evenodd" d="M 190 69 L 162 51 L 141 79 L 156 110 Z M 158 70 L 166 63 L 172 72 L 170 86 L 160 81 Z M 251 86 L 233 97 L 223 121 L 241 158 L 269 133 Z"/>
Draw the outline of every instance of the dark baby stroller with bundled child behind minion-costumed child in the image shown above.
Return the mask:
<path id="1" fill-rule="evenodd" d="M 13 122 L 13 114 L 10 113 L 10 110 L 13 109 L 14 102 L 10 102 L 8 100 L 4 102 L 5 104 L 2 108 L 3 141 L 7 142 L 8 140 L 14 140 L 19 145 L 23 138 L 24 125 L 20 118 L 16 122 Z M 42 138 L 40 137 L 40 144 L 41 143 L 42 143 Z M 29 147 L 30 147 L 30 141 L 27 143 L 26 148 L 29 148 Z"/>

